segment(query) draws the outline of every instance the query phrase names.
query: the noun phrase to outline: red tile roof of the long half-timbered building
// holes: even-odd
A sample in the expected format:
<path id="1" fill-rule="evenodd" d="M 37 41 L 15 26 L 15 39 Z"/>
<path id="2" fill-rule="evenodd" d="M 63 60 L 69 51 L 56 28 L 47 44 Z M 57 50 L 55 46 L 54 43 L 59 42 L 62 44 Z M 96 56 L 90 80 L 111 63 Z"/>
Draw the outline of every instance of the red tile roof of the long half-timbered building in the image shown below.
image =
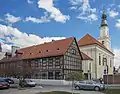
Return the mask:
<path id="1" fill-rule="evenodd" d="M 50 56 L 64 55 L 71 43 L 75 40 L 74 37 L 63 40 L 52 41 L 36 46 L 30 46 L 17 50 L 16 53 L 21 54 L 19 59 L 34 59 Z M 3 59 L 5 60 L 5 59 Z M 18 58 L 11 57 L 8 60 L 18 60 Z"/>

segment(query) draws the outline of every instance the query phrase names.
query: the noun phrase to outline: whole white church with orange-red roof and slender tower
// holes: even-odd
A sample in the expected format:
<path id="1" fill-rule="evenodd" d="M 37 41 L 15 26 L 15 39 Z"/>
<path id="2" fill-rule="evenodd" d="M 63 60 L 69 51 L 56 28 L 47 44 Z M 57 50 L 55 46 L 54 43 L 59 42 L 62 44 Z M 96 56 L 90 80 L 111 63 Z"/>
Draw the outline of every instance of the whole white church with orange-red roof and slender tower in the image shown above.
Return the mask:
<path id="1" fill-rule="evenodd" d="M 114 53 L 105 12 L 102 14 L 100 36 L 97 39 L 86 34 L 78 41 L 80 50 L 90 58 L 83 60 L 82 68 L 86 79 L 99 79 L 103 75 L 113 74 Z"/>

